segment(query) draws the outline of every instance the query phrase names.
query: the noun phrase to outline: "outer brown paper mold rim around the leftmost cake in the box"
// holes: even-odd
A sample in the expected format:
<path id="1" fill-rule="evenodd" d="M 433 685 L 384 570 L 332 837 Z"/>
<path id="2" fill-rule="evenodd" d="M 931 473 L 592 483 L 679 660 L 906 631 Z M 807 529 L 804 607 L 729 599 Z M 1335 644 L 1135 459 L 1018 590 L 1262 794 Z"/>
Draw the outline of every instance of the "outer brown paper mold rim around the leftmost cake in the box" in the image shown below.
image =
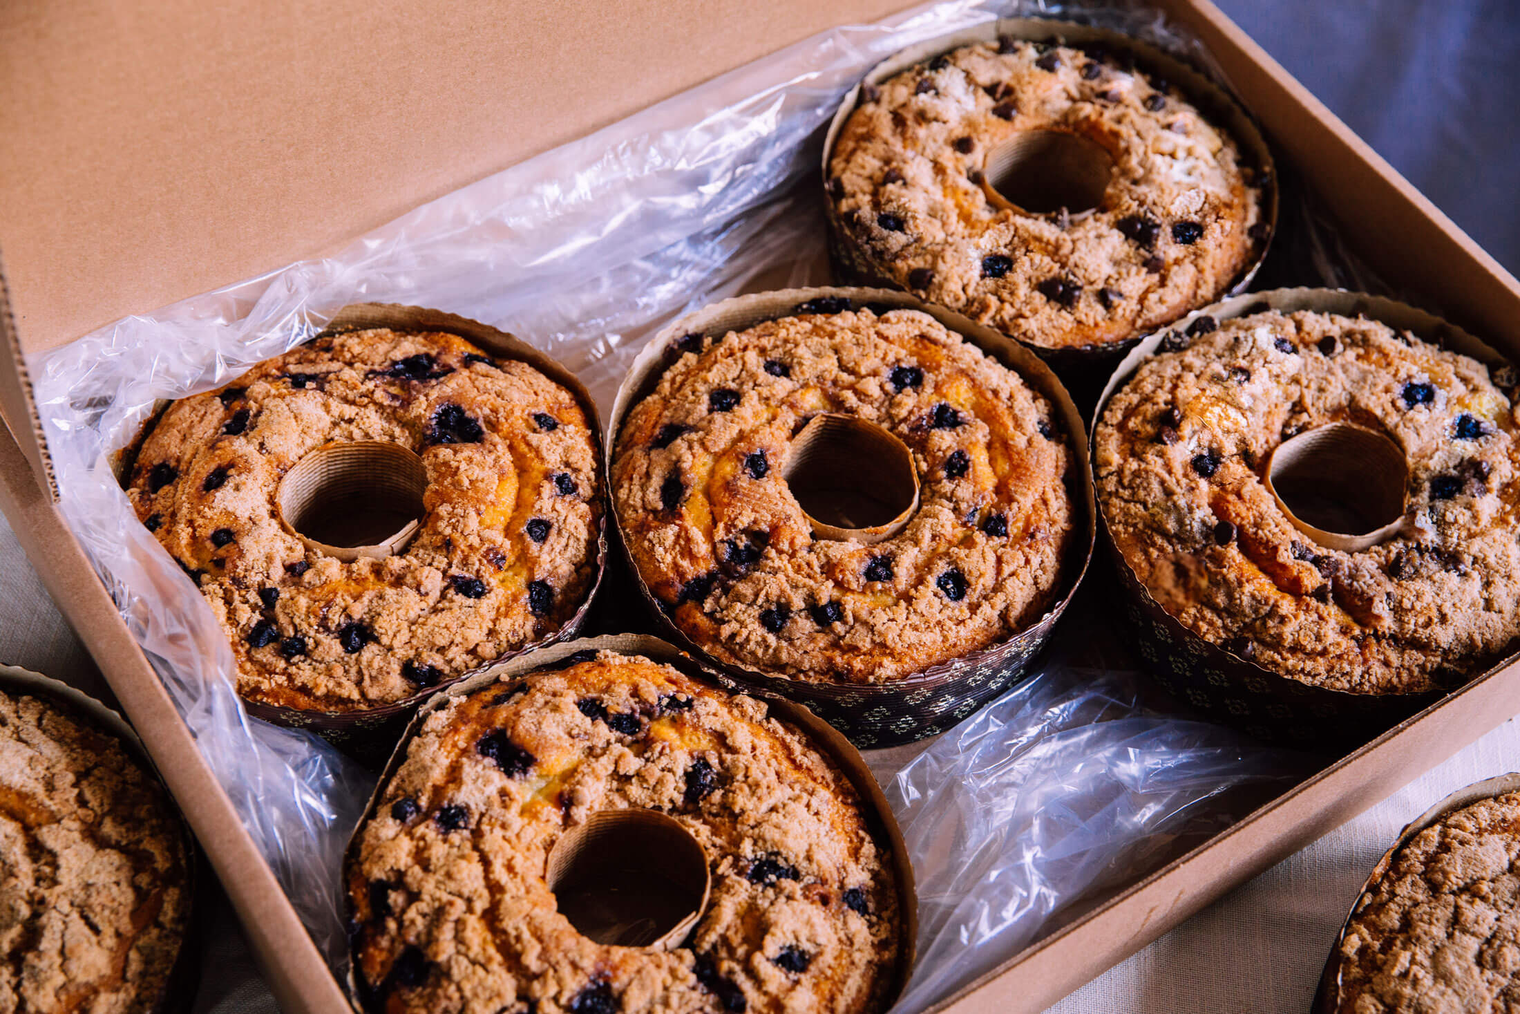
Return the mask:
<path id="1" fill-rule="evenodd" d="M 605 455 L 600 447 L 602 423 L 596 410 L 596 403 L 591 400 L 591 394 L 585 389 L 585 385 L 553 357 L 508 331 L 480 324 L 479 321 L 471 321 L 470 318 L 464 318 L 456 313 L 445 313 L 442 310 L 430 310 L 426 307 L 400 306 L 394 303 L 351 303 L 333 315 L 327 327 L 318 334 L 313 334 L 309 341 L 366 328 L 444 331 L 448 334 L 458 334 L 503 359 L 526 362 L 529 366 L 547 375 L 562 388 L 567 388 L 575 395 L 581 410 L 585 412 L 587 427 L 591 432 L 593 453 L 597 461 L 597 480 L 600 482 L 600 491 L 597 496 L 600 517 L 597 518 L 596 532 L 596 572 L 591 578 L 591 587 L 587 590 L 585 597 L 581 600 L 581 605 L 572 617 L 565 620 L 564 626 L 547 637 L 508 652 L 502 660 L 497 660 L 497 663 L 506 658 L 515 658 L 517 655 L 535 651 L 546 645 L 553 645 L 575 637 L 585 625 L 591 600 L 596 597 L 596 591 L 602 585 L 602 576 L 606 572 L 606 532 L 611 524 L 608 521 L 611 514 L 611 497 L 608 496 L 608 477 L 605 474 L 603 464 Z M 141 435 L 137 441 L 134 441 L 135 444 L 141 442 L 149 432 L 149 427 L 154 426 L 160 417 L 161 412 L 155 414 L 154 418 L 144 424 Z M 464 680 L 468 675 L 470 673 L 462 673 L 456 677 L 456 680 Z M 450 683 L 453 681 L 441 683 L 439 686 L 429 687 L 421 693 L 415 693 L 401 701 L 394 701 L 374 708 L 322 711 L 266 704 L 260 701 L 249 701 L 246 698 L 243 699 L 243 707 L 249 715 L 277 725 L 310 728 L 331 739 L 345 749 L 351 749 L 360 756 L 374 756 L 377 746 L 389 749 L 391 742 L 394 742 L 395 730 L 404 724 L 406 716 L 416 708 L 418 702 L 427 699 L 433 693 L 438 693 L 442 687 L 450 686 Z"/>

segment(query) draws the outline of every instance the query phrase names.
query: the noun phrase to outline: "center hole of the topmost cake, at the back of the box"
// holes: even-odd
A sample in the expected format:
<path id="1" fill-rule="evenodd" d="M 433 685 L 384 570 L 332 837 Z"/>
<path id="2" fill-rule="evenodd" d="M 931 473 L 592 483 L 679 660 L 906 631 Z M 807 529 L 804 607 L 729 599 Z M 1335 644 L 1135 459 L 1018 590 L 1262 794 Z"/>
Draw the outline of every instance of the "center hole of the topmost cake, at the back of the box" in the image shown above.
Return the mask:
<path id="1" fill-rule="evenodd" d="M 1021 131 L 988 152 L 982 189 L 999 207 L 1078 213 L 1102 204 L 1113 175 L 1114 160 L 1096 141 L 1067 131 Z"/>

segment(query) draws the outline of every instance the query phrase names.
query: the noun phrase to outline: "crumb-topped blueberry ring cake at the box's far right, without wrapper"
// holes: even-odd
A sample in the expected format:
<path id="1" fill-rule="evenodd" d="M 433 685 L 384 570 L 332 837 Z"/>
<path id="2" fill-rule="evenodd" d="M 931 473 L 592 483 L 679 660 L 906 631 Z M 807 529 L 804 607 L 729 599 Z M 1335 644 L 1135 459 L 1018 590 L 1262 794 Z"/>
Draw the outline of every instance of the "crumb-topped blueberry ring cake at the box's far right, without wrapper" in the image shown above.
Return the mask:
<path id="1" fill-rule="evenodd" d="M 1167 341 L 1192 345 L 1113 397 L 1094 459 L 1114 543 L 1161 608 L 1266 669 L 1357 693 L 1459 681 L 1520 635 L 1520 448 L 1487 366 L 1312 312 Z M 1278 444 L 1341 421 L 1409 461 L 1412 526 L 1362 552 L 1313 544 L 1263 482 Z"/>

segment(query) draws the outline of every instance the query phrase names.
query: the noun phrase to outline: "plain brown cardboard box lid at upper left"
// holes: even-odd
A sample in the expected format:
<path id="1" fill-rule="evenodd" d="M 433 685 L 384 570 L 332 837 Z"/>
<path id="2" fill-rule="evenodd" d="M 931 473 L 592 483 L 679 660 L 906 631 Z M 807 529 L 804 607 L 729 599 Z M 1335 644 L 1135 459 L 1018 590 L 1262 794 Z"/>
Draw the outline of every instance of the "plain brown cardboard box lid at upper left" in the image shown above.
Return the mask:
<path id="1" fill-rule="evenodd" d="M 906 0 L 11 0 L 21 347 L 258 275 Z"/>

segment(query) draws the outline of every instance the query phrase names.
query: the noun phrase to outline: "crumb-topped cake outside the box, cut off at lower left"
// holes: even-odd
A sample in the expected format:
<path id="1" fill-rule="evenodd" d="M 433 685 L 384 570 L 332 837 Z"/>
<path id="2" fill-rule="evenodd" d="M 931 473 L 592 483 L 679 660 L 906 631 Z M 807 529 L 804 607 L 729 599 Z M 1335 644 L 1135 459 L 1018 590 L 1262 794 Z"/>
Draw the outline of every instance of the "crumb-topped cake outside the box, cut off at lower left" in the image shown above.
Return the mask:
<path id="1" fill-rule="evenodd" d="M 114 737 L 0 692 L 0 1011 L 152 1009 L 188 918 L 184 848 Z"/>

